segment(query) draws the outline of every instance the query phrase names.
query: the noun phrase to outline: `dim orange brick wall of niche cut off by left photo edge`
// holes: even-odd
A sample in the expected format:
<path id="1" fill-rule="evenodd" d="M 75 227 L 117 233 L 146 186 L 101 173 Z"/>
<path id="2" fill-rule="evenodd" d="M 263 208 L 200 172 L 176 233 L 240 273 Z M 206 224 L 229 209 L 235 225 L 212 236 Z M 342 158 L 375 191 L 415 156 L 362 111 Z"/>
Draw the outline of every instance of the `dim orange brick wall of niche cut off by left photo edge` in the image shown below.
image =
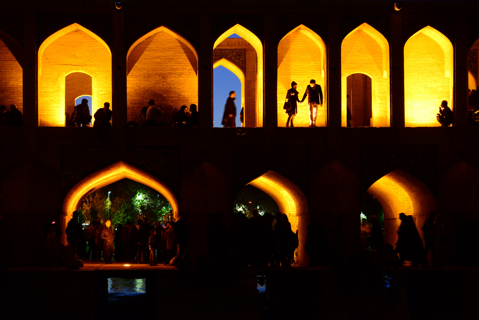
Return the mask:
<path id="1" fill-rule="evenodd" d="M 23 69 L 0 39 L 0 105 L 23 111 Z"/>

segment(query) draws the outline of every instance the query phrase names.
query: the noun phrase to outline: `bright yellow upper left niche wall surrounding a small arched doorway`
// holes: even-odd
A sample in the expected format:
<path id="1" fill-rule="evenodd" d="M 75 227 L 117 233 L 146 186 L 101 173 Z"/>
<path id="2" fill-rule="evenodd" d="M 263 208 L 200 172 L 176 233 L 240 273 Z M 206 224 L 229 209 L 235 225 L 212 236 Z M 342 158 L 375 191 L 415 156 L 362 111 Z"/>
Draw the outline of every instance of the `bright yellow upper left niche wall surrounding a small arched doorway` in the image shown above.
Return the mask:
<path id="1" fill-rule="evenodd" d="M 38 125 L 65 125 L 65 77 L 91 76 L 92 109 L 112 103 L 112 53 L 99 36 L 70 24 L 46 38 L 38 49 Z"/>

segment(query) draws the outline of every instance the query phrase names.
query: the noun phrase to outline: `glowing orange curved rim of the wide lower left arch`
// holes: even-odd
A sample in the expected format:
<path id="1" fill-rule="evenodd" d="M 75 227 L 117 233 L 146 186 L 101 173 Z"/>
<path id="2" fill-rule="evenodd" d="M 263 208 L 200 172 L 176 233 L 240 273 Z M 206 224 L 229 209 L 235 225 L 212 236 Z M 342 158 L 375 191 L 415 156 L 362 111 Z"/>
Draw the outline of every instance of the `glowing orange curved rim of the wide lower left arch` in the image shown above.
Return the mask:
<path id="1" fill-rule="evenodd" d="M 81 200 L 93 191 L 123 178 L 137 181 L 160 192 L 170 202 L 173 214 L 176 216 L 178 213 L 178 201 L 170 188 L 145 171 L 123 161 L 118 161 L 82 179 L 68 191 L 63 201 L 61 217 L 61 241 L 63 244 L 67 243 L 65 235 L 67 223 L 70 221 L 73 211 L 78 210 L 80 207 Z"/>

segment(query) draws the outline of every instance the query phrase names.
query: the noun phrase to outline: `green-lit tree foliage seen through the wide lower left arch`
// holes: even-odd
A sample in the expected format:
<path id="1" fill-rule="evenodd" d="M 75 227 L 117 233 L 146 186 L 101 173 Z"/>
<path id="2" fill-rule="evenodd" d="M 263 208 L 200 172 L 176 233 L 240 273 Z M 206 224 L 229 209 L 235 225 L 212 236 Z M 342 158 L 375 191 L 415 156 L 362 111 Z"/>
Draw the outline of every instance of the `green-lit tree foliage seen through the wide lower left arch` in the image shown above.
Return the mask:
<path id="1" fill-rule="evenodd" d="M 111 191 L 109 200 L 108 191 Z M 83 201 L 83 210 L 88 211 L 86 218 L 94 219 L 98 215 L 102 217 L 102 222 L 108 218 L 110 210 L 113 225 L 137 222 L 137 219 L 144 217 L 148 217 L 150 222 L 164 223 L 171 217 L 170 202 L 158 191 L 129 179 L 122 179 L 91 193 Z"/>

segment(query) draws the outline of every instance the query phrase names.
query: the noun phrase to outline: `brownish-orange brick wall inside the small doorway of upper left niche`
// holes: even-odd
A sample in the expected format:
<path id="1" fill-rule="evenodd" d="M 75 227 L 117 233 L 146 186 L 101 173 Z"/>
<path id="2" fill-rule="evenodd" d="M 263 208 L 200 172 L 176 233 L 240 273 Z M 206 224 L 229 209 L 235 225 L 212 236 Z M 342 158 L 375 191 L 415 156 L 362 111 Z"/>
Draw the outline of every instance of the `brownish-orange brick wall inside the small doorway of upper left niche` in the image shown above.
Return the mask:
<path id="1" fill-rule="evenodd" d="M 65 112 L 69 116 L 75 110 L 75 99 L 81 95 L 91 95 L 91 76 L 83 72 L 68 74 L 65 77 Z M 95 111 L 92 109 L 93 113 Z"/>

